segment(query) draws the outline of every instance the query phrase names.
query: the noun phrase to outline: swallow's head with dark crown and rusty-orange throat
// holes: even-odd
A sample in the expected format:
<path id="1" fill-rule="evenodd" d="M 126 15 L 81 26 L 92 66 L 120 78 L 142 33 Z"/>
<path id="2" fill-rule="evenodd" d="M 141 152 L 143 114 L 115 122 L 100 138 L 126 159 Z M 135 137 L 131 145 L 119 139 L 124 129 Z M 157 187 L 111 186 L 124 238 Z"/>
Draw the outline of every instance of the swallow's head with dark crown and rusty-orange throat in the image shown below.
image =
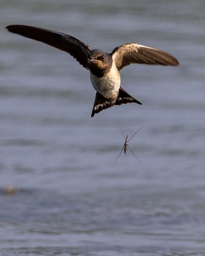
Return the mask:
<path id="1" fill-rule="evenodd" d="M 91 69 L 106 69 L 108 66 L 110 66 L 111 62 L 112 58 L 110 54 L 98 49 L 91 50 L 88 58 L 88 63 Z"/>

